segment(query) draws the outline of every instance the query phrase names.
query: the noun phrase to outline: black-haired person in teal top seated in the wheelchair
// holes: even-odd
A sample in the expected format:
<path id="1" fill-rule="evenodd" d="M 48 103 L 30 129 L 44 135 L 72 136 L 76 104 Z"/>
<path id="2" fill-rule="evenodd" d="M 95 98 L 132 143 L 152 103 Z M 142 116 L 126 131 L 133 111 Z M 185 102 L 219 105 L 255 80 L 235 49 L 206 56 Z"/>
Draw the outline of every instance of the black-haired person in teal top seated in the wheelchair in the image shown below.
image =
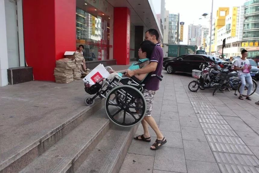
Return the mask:
<path id="1" fill-rule="evenodd" d="M 131 66 L 128 69 L 121 70 L 121 71 L 110 70 L 110 76 L 108 77 L 108 79 L 112 80 L 115 76 L 126 77 L 123 73 L 146 67 L 149 64 L 149 59 L 154 48 L 155 48 L 155 44 L 152 43 L 151 41 L 149 40 L 143 41 L 140 44 L 140 49 L 138 49 L 139 60 L 131 64 Z M 146 76 L 147 76 L 147 73 L 134 75 L 134 77 L 136 77 L 140 81 L 144 80 Z"/>

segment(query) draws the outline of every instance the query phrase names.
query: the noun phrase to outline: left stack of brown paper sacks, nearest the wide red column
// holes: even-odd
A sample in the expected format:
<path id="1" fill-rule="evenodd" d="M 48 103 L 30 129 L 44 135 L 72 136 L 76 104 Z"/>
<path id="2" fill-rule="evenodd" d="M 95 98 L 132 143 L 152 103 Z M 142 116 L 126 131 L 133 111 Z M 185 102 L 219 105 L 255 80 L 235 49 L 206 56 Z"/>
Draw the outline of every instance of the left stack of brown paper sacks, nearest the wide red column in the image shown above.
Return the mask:
<path id="1" fill-rule="evenodd" d="M 76 68 L 75 61 L 71 58 L 62 58 L 56 61 L 54 76 L 56 83 L 70 83 L 74 81 L 73 69 Z"/>

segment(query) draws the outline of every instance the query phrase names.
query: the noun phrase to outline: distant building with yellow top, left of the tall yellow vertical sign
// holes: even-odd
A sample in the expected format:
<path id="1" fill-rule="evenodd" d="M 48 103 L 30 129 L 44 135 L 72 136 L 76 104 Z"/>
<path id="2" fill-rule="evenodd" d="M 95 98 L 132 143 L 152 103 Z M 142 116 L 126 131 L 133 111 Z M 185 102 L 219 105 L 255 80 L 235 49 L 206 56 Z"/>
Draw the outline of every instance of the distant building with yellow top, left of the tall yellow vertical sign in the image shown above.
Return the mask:
<path id="1" fill-rule="evenodd" d="M 216 53 L 217 51 L 217 32 L 218 30 L 225 26 L 226 16 L 229 14 L 229 7 L 220 7 L 217 10 L 215 17 L 215 25 L 212 28 L 212 42 L 211 42 L 211 53 Z M 213 25 L 212 25 L 213 26 Z M 209 52 L 210 46 L 207 44 L 206 52 Z"/>

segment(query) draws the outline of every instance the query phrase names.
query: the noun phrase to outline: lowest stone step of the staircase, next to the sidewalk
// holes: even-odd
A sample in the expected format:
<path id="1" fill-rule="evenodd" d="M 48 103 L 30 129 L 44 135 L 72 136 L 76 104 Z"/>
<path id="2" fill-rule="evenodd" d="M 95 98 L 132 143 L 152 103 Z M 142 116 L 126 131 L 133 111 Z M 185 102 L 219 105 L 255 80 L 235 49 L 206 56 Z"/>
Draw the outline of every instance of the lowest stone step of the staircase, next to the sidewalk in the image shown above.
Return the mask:
<path id="1" fill-rule="evenodd" d="M 137 127 L 138 125 L 131 128 L 112 125 L 93 152 L 87 156 L 87 159 L 75 172 L 118 172 Z"/>

